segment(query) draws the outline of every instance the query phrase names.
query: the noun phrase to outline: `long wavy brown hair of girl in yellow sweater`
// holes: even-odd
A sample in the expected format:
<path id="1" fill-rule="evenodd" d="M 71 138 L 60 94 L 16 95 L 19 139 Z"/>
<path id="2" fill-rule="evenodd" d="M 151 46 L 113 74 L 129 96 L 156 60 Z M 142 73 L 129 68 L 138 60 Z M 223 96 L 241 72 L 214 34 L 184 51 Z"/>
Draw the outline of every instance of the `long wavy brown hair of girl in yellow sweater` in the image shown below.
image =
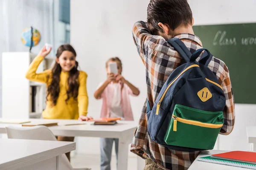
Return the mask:
<path id="1" fill-rule="evenodd" d="M 76 51 L 70 44 L 61 45 L 58 50 L 56 57 L 59 58 L 63 51 L 70 51 L 74 54 L 76 57 Z M 78 71 L 78 62 L 76 61 L 75 66 L 69 71 L 69 76 L 67 79 L 67 99 L 65 102 L 73 97 L 74 100 L 77 100 L 78 96 L 78 88 L 79 88 L 79 71 Z M 48 96 L 50 96 L 50 100 L 52 101 L 52 104 L 55 106 L 57 103 L 57 99 L 60 93 L 60 74 L 61 74 L 61 65 L 58 64 L 58 62 L 55 62 L 53 68 L 52 68 L 52 80 L 47 88 L 47 96 L 46 99 L 48 101 Z M 49 79 L 49 77 L 48 77 Z"/>

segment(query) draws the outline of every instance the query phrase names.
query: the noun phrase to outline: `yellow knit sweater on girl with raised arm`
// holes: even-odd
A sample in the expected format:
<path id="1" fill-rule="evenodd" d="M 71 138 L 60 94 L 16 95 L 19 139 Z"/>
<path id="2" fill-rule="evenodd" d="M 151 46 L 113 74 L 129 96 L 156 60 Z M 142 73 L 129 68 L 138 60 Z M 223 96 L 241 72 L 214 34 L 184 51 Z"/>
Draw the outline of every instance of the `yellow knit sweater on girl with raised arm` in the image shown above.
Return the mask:
<path id="1" fill-rule="evenodd" d="M 26 73 L 26 78 L 30 81 L 34 82 L 43 82 L 46 85 L 49 85 L 51 82 L 51 71 L 46 70 L 42 73 L 36 73 L 36 70 L 39 64 L 44 60 L 44 57 L 37 56 L 29 65 L 29 70 Z M 67 79 L 68 72 L 61 72 L 60 75 L 60 93 L 57 99 L 56 105 L 52 105 L 52 101 L 48 96 L 48 101 L 46 103 L 46 108 L 43 111 L 44 119 L 78 119 L 79 115 L 87 115 L 88 108 L 88 96 L 86 89 L 86 80 L 87 74 L 84 71 L 80 71 L 79 73 L 79 90 L 77 101 L 73 98 L 70 98 L 67 103 L 65 100 L 67 99 Z M 49 79 L 48 79 L 49 76 Z"/>

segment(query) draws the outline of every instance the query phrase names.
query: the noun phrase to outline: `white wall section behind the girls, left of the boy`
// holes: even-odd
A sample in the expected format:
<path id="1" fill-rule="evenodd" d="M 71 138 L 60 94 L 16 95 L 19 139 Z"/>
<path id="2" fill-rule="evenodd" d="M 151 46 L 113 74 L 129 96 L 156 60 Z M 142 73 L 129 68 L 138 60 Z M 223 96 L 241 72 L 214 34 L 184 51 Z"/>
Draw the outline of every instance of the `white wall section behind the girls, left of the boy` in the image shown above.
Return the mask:
<path id="1" fill-rule="evenodd" d="M 93 93 L 106 79 L 106 60 L 119 56 L 123 76 L 141 91 L 140 96 L 131 97 L 134 119 L 139 119 L 146 99 L 145 68 L 133 42 L 132 26 L 146 19 L 146 10 L 141 9 L 147 5 L 142 0 L 71 0 L 70 42 L 88 74 L 88 115 L 99 118 L 102 101 L 96 101 Z M 99 139 L 79 138 L 77 148 L 78 153 L 99 153 Z"/>

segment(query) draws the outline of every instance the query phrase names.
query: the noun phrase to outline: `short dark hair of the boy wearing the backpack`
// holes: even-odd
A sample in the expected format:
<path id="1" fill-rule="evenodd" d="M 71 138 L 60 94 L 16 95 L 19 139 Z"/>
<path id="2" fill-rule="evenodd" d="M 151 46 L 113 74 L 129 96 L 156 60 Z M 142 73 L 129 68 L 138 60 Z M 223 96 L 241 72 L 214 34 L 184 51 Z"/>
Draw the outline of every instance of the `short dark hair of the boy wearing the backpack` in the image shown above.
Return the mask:
<path id="1" fill-rule="evenodd" d="M 187 0 L 150 0 L 147 22 L 152 34 L 163 32 L 159 22 L 174 30 L 180 25 L 192 25 L 192 11 Z"/>

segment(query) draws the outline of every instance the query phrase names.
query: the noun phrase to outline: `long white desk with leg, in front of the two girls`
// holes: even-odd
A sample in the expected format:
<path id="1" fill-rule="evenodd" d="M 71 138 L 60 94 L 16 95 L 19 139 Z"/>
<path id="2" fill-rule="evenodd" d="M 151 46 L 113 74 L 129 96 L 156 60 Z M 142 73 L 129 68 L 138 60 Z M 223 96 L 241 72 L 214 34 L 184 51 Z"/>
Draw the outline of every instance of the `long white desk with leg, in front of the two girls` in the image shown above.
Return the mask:
<path id="1" fill-rule="evenodd" d="M 0 119 L 6 120 L 6 119 Z M 56 136 L 85 136 L 85 137 L 102 137 L 118 138 L 118 170 L 127 170 L 128 145 L 132 142 L 134 132 L 138 125 L 134 121 L 119 121 L 116 125 L 91 125 L 92 122 L 82 122 L 84 125 L 68 125 L 81 123 L 78 120 L 61 120 L 61 119 L 28 119 L 31 123 L 37 122 L 58 122 L 58 126 L 49 127 Z M 21 126 L 12 124 L 15 126 Z M 0 124 L 0 133 L 6 133 L 5 127 L 10 124 Z"/>

